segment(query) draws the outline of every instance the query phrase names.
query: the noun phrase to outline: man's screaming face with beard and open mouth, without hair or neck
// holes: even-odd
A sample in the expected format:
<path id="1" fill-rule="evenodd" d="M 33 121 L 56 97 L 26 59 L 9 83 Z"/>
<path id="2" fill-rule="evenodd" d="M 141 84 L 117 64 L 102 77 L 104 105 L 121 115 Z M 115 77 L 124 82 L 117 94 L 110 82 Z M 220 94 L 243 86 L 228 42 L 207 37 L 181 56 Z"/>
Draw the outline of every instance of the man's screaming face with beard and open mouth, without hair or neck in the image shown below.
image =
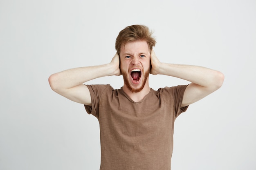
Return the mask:
<path id="1" fill-rule="evenodd" d="M 121 46 L 120 70 L 124 86 L 131 92 L 137 93 L 148 84 L 150 50 L 146 41 L 128 42 Z"/>

